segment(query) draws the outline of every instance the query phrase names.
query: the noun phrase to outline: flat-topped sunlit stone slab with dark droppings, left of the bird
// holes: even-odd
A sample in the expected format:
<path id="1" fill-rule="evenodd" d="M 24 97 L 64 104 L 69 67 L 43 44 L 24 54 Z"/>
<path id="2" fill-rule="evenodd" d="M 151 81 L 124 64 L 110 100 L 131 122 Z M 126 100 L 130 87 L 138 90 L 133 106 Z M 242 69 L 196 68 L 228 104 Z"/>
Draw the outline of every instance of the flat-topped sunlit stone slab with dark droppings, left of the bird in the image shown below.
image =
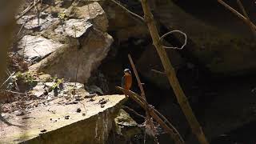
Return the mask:
<path id="1" fill-rule="evenodd" d="M 102 98 L 108 101 L 100 104 Z M 22 127 L 0 122 L 0 143 L 104 143 L 125 99 L 124 95 L 106 95 L 73 105 L 38 107 L 19 117 L 4 114 L 10 123 Z"/>

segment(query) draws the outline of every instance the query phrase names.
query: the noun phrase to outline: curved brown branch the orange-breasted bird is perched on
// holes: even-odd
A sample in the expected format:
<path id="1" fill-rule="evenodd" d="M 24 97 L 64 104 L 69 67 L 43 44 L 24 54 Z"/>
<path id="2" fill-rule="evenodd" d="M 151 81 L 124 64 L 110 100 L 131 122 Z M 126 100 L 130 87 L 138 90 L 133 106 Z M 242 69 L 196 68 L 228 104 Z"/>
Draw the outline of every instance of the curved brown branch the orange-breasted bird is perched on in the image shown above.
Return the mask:
<path id="1" fill-rule="evenodd" d="M 126 95 L 128 95 L 130 98 L 132 98 L 135 102 L 137 102 L 140 106 L 142 106 L 143 109 L 146 110 L 146 108 L 147 108 L 147 109 L 149 110 L 149 114 L 151 115 L 151 117 L 154 118 L 154 120 L 155 120 L 156 122 L 158 122 L 159 125 L 162 126 L 162 128 L 168 132 L 168 134 L 170 134 L 171 138 L 174 139 L 174 142 L 175 142 L 176 144 L 185 144 L 185 142 L 184 142 L 182 136 L 178 133 L 178 130 L 176 130 L 175 127 L 172 126 L 172 125 L 170 124 L 170 122 L 168 122 L 167 119 L 164 118 L 164 117 L 162 116 L 162 114 L 160 114 L 160 113 L 158 112 L 158 110 L 155 110 L 154 107 L 147 105 L 145 99 L 143 99 L 141 96 L 139 96 L 138 94 L 134 93 L 134 92 L 131 91 L 131 90 L 125 90 L 125 89 L 123 89 L 122 87 L 119 87 L 119 86 L 116 86 L 116 88 L 117 88 L 118 90 L 122 90 L 122 92 L 123 92 L 124 94 L 126 94 Z M 164 122 L 164 121 L 162 120 L 162 118 L 159 118 L 159 114 L 161 115 L 161 117 L 162 117 L 162 118 L 164 119 L 164 121 L 166 121 L 166 122 Z M 167 123 L 169 126 L 168 126 L 166 123 Z"/>

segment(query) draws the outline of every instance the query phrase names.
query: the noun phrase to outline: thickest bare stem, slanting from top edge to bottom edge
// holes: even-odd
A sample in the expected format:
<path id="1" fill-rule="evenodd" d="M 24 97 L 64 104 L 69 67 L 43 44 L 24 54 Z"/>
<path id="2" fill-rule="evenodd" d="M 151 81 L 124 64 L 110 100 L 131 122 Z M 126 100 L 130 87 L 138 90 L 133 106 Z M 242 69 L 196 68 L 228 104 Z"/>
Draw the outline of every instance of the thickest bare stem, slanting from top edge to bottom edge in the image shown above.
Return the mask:
<path id="1" fill-rule="evenodd" d="M 178 103 L 181 106 L 182 111 L 190 124 L 192 132 L 197 136 L 198 141 L 201 144 L 208 144 L 209 142 L 206 140 L 206 136 L 202 131 L 202 127 L 200 126 L 197 118 L 194 116 L 193 110 L 190 107 L 190 103 L 188 102 L 186 95 L 184 94 L 182 87 L 178 82 L 178 78 L 176 77 L 174 67 L 170 63 L 170 59 L 166 54 L 166 50 L 164 50 L 161 42 L 159 42 L 160 36 L 158 34 L 157 27 L 154 24 L 153 14 L 151 14 L 150 12 L 150 6 L 148 5 L 147 0 L 142 0 L 141 2 L 142 9 L 144 11 L 144 19 L 150 30 L 150 35 L 152 37 L 153 44 L 156 50 L 158 51 L 158 55 L 161 59 L 162 66 L 166 71 L 166 76 L 169 79 L 170 85 L 174 90 L 174 94 L 178 100 Z"/>

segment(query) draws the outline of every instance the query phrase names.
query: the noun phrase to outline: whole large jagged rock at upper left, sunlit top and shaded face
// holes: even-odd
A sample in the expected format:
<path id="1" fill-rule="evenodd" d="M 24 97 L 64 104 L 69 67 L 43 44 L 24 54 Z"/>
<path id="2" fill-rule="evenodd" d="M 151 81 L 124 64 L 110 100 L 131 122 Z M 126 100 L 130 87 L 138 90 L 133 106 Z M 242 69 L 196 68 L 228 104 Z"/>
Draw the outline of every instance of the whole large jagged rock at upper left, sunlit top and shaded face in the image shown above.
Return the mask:
<path id="1" fill-rule="evenodd" d="M 102 31 L 108 25 L 106 19 L 100 21 L 106 17 L 102 8 L 95 2 L 89 6 L 94 8 L 90 9 L 91 17 L 81 15 L 81 11 L 87 9 L 84 6 L 78 7 L 73 12 L 71 10 L 70 14 L 79 18 L 70 18 L 53 25 L 43 33 L 47 38 L 62 42 L 63 46 L 42 59 L 42 62 L 30 66 L 30 70 L 43 71 L 72 82 L 84 83 L 90 78 L 90 72 L 106 57 L 114 40 Z"/>

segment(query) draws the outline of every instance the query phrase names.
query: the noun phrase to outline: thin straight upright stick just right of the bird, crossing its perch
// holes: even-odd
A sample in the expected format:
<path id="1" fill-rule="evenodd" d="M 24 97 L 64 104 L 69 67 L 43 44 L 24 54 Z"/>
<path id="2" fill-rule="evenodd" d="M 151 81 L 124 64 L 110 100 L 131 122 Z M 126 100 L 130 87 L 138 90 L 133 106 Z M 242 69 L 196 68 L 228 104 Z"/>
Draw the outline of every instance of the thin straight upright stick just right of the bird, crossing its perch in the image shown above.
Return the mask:
<path id="1" fill-rule="evenodd" d="M 134 61 L 133 61 L 133 59 L 130 57 L 130 54 L 128 54 L 128 58 L 129 58 L 129 60 L 130 60 L 130 65 L 131 65 L 131 67 L 133 68 L 133 71 L 134 71 L 134 75 L 135 75 L 135 77 L 136 77 L 136 79 L 137 79 L 137 82 L 138 82 L 138 87 L 139 87 L 139 89 L 141 90 L 141 92 L 142 92 L 142 98 L 144 98 L 145 99 L 145 102 L 146 102 L 146 95 L 145 95 L 145 91 L 144 91 L 144 89 L 143 89 L 143 86 L 142 86 L 142 82 L 141 82 L 141 80 L 140 80 L 140 78 L 138 77 L 138 71 L 137 71 L 137 69 L 136 69 L 136 67 L 135 67 L 135 65 L 134 65 Z M 145 105 L 147 104 L 147 102 L 145 103 Z M 154 130 L 154 124 L 151 122 L 151 120 L 150 120 L 150 115 L 149 115 L 149 110 L 146 108 L 146 127 L 147 127 L 147 124 L 149 124 L 149 126 L 150 126 L 150 128 L 152 129 L 152 130 Z M 154 133 L 152 134 L 153 136 L 155 135 Z"/>

